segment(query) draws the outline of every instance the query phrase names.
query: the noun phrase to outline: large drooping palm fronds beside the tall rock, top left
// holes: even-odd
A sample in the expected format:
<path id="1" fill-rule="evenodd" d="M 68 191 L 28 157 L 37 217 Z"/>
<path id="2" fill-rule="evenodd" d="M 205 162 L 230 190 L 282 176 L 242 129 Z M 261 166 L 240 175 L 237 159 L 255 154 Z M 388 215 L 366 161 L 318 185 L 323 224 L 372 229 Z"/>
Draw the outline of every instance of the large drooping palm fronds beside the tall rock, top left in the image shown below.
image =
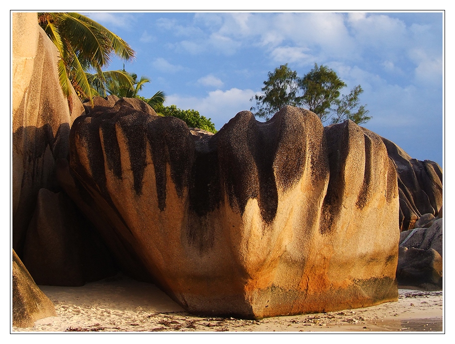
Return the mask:
<path id="1" fill-rule="evenodd" d="M 38 22 L 60 53 L 57 66 L 60 85 L 70 108 L 70 84 L 82 97 L 92 101 L 95 88 L 86 72 L 94 70 L 105 83 L 109 77 L 101 69 L 108 66 L 112 55 L 126 61 L 134 58 L 134 50 L 125 41 L 82 14 L 41 12 L 38 13 Z M 110 77 L 124 78 L 118 72 L 113 72 Z"/>

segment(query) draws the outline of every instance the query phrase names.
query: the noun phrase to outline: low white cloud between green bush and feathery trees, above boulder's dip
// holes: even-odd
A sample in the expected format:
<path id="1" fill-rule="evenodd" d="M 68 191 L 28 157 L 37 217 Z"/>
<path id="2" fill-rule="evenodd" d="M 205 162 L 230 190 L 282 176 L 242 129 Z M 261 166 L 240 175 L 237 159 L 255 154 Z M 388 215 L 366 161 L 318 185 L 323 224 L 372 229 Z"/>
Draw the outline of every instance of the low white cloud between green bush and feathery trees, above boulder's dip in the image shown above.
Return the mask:
<path id="1" fill-rule="evenodd" d="M 215 128 L 219 130 L 240 111 L 250 110 L 254 105 L 250 99 L 255 94 L 256 92 L 251 89 L 238 88 L 212 91 L 204 98 L 182 97 L 173 94 L 167 97 L 165 105 L 175 104 L 181 109 L 197 110 L 202 116 L 211 118 Z"/>

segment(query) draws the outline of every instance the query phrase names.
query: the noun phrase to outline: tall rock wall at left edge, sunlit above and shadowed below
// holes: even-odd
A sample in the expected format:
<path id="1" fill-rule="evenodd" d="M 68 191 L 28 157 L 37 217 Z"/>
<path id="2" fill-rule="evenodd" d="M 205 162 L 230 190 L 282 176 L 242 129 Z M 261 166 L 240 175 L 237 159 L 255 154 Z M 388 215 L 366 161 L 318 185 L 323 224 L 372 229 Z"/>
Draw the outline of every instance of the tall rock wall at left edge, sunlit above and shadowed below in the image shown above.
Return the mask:
<path id="1" fill-rule="evenodd" d="M 12 245 L 19 257 L 38 191 L 59 190 L 55 161 L 68 157 L 70 126 L 84 112 L 74 94 L 70 114 L 59 83 L 58 56 L 36 13 L 13 13 Z"/>

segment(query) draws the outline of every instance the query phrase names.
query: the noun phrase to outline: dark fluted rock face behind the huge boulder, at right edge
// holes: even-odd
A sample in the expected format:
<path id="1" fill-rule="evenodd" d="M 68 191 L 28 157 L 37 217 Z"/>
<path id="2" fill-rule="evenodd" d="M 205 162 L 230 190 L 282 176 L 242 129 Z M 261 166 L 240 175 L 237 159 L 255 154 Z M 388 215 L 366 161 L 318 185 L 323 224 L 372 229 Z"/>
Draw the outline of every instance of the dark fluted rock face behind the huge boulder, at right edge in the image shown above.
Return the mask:
<path id="1" fill-rule="evenodd" d="M 434 161 L 412 159 L 403 149 L 382 138 L 396 164 L 400 195 L 400 231 L 415 228 L 423 214 L 442 217 L 443 171 Z"/>

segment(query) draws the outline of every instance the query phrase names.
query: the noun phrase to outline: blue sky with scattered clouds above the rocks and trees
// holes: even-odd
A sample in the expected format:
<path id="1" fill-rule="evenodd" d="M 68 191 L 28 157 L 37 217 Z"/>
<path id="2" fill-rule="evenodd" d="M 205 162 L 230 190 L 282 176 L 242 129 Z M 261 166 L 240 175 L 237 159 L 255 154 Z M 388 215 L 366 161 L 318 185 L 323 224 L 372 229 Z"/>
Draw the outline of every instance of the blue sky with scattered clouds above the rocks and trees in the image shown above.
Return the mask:
<path id="1" fill-rule="evenodd" d="M 125 69 L 152 79 L 165 105 L 195 109 L 219 130 L 256 105 L 269 71 L 303 76 L 314 63 L 364 93 L 363 126 L 411 157 L 443 166 L 443 13 L 84 13 L 136 51 Z M 109 69 L 122 69 L 114 59 Z"/>

